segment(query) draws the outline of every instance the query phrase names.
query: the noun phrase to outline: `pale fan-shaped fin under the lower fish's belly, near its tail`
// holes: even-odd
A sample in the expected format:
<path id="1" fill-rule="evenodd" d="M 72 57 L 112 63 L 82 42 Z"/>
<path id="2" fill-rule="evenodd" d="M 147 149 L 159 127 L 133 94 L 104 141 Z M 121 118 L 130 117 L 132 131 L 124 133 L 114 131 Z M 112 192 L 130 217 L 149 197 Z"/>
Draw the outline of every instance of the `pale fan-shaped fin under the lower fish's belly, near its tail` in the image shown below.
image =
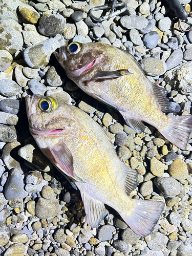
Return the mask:
<path id="1" fill-rule="evenodd" d="M 81 193 L 82 201 L 84 204 L 84 210 L 87 215 L 87 223 L 91 227 L 98 227 L 99 223 L 106 216 L 108 211 L 101 201 L 93 199 L 87 193 Z"/>

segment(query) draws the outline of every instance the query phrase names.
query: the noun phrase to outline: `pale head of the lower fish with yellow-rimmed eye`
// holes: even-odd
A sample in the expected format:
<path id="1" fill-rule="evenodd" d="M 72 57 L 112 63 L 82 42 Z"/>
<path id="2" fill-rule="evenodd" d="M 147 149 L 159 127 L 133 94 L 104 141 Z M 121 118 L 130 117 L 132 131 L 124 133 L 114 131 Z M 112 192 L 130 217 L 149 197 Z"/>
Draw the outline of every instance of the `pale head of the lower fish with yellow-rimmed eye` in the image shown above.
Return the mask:
<path id="1" fill-rule="evenodd" d="M 29 130 L 32 135 L 59 135 L 73 125 L 73 108 L 60 98 L 33 95 L 26 97 Z"/>

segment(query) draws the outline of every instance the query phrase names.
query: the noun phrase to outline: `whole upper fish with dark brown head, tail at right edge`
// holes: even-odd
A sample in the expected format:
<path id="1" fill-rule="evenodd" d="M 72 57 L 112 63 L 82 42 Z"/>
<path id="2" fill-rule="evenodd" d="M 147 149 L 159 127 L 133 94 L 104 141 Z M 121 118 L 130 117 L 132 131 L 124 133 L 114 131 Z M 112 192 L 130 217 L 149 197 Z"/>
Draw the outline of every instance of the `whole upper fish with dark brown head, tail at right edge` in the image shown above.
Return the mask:
<path id="1" fill-rule="evenodd" d="M 164 113 L 171 109 L 163 87 L 147 79 L 133 55 L 100 42 L 71 42 L 55 56 L 83 92 L 118 110 L 135 132 L 144 132 L 146 122 L 185 150 L 192 116 Z"/>

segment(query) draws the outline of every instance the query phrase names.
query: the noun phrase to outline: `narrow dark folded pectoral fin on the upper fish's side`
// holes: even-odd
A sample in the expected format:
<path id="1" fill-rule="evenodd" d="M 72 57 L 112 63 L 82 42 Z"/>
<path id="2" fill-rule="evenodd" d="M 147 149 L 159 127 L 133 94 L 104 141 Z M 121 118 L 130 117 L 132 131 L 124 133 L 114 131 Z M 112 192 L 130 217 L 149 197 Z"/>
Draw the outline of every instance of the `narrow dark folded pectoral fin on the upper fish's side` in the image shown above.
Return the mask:
<path id="1" fill-rule="evenodd" d="M 92 79 L 87 83 L 88 86 L 90 86 L 92 83 L 94 83 L 98 79 L 106 79 L 106 78 L 117 78 L 124 75 L 131 75 L 133 73 L 129 72 L 126 69 L 120 69 L 116 71 L 102 71 L 98 70 L 96 74 L 92 77 Z"/>

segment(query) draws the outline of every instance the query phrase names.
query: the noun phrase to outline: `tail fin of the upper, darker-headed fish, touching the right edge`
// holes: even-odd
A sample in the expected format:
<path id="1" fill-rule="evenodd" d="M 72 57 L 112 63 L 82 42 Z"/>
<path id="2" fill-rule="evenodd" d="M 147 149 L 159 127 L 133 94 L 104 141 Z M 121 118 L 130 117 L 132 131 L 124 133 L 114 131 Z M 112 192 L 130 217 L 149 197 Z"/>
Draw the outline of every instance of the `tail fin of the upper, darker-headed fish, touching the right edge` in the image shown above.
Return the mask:
<path id="1" fill-rule="evenodd" d="M 169 118 L 172 118 L 171 124 L 159 131 L 167 140 L 182 150 L 185 150 L 189 134 L 192 131 L 192 115 L 173 116 Z"/>

